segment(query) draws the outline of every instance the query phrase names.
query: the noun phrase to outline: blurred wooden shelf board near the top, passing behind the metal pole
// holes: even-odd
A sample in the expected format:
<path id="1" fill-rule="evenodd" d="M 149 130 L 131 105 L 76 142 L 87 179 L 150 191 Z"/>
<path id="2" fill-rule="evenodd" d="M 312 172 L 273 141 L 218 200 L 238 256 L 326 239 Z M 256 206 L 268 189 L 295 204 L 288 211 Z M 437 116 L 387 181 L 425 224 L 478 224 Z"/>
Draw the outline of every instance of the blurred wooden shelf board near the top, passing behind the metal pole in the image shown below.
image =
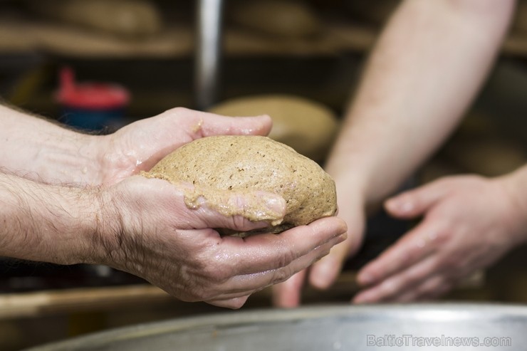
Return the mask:
<path id="1" fill-rule="evenodd" d="M 172 26 L 143 41 L 123 40 L 97 32 L 51 23 L 0 23 L 0 53 L 41 52 L 81 58 L 181 58 L 194 53 L 191 26 Z M 358 23 L 330 22 L 316 38 L 277 39 L 239 28 L 226 28 L 226 56 L 328 56 L 364 52 L 377 38 L 377 30 Z M 527 57 L 527 36 L 511 33 L 503 53 Z"/>

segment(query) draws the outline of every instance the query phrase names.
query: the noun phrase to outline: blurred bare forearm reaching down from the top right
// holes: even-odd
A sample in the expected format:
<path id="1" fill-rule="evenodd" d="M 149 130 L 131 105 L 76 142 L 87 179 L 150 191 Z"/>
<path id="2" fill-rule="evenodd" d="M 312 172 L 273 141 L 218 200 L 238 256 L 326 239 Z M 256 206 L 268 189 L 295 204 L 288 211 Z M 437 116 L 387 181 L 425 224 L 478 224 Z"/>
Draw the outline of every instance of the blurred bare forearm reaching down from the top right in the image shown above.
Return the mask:
<path id="1" fill-rule="evenodd" d="M 437 149 L 488 73 L 513 3 L 407 0 L 400 6 L 370 56 L 328 159 L 338 186 L 355 182 L 366 201 L 380 201 Z"/>

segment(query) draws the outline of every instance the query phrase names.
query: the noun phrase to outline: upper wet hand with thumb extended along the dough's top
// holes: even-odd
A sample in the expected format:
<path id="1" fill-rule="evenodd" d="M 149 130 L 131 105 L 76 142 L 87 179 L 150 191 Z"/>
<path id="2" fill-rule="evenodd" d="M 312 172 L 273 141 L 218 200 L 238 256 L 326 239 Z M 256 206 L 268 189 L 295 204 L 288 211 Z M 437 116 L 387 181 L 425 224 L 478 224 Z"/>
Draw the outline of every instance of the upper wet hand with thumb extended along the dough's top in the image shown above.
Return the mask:
<path id="1" fill-rule="evenodd" d="M 115 184 L 149 170 L 160 159 L 192 140 L 212 135 L 267 135 L 271 118 L 224 117 L 207 112 L 173 108 L 139 120 L 111 135 L 94 137 L 98 173 L 95 184 Z"/>

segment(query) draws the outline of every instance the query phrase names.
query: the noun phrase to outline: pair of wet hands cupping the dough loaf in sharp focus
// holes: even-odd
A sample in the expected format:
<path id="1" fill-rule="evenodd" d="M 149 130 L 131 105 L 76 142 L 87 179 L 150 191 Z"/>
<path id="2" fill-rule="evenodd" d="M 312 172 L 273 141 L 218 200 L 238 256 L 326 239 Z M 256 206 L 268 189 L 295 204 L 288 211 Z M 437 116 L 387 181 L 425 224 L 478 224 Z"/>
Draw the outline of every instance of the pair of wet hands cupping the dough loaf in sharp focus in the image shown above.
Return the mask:
<path id="1" fill-rule="evenodd" d="M 134 176 L 200 137 L 266 135 L 270 128 L 267 116 L 231 118 L 176 108 L 113 135 L 93 137 L 90 147 L 100 168 L 94 174 L 102 184 L 99 263 L 145 278 L 181 300 L 239 308 L 251 293 L 284 281 L 325 256 L 345 239 L 345 223 L 337 217 L 278 236 L 220 237 L 212 228 L 249 231 L 268 224 L 225 217 L 207 206 L 188 209 L 184 189 Z M 244 194 L 225 197 L 241 208 L 248 202 Z M 263 206 L 285 212 L 281 197 L 268 194 L 261 199 Z"/>

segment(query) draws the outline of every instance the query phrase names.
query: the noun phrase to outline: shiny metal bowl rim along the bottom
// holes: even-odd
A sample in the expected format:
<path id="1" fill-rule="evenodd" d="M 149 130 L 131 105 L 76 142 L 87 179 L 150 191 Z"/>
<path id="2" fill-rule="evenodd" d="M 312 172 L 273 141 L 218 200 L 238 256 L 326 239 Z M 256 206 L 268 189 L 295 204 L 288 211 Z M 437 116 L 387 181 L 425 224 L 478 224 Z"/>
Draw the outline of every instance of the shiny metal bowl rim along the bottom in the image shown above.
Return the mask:
<path id="1" fill-rule="evenodd" d="M 100 332 L 31 351 L 526 350 L 521 305 L 330 305 L 246 310 Z"/>

